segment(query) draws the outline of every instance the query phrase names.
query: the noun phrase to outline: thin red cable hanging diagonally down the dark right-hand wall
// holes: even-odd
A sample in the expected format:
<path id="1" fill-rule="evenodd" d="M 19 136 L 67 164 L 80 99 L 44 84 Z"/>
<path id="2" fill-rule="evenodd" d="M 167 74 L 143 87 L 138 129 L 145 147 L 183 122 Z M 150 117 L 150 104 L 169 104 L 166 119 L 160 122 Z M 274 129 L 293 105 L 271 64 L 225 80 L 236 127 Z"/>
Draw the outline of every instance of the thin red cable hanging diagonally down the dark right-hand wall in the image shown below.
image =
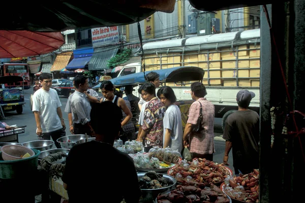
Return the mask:
<path id="1" fill-rule="evenodd" d="M 281 73 L 282 73 L 282 78 L 283 78 L 283 82 L 284 82 L 285 89 L 286 89 L 288 103 L 289 103 L 290 109 L 292 111 L 293 110 L 292 102 L 291 102 L 290 94 L 289 94 L 289 91 L 288 91 L 288 87 L 287 87 L 287 83 L 286 83 L 286 78 L 285 78 L 285 74 L 284 74 L 284 70 L 283 70 L 283 65 L 282 65 L 281 57 L 280 57 L 278 46 L 277 46 L 277 43 L 276 43 L 276 38 L 275 38 L 274 32 L 273 32 L 272 27 L 271 27 L 271 22 L 270 22 L 267 6 L 263 5 L 263 8 L 264 8 L 264 12 L 265 12 L 265 15 L 266 15 L 266 18 L 267 18 L 267 21 L 268 21 L 268 25 L 269 25 L 269 29 L 270 29 L 270 35 L 271 35 L 273 44 L 275 45 L 275 50 L 276 50 L 277 57 L 278 57 L 278 60 L 279 60 L 279 64 L 280 64 L 280 67 L 281 67 Z M 297 136 L 298 136 L 300 134 L 300 132 L 298 130 L 298 127 L 297 127 L 297 124 L 296 124 L 296 121 L 295 121 L 294 112 L 292 112 L 291 114 L 292 114 L 292 119 L 293 119 L 293 123 L 294 123 L 294 126 L 295 126 L 295 130 L 296 130 L 296 133 L 297 133 Z M 304 162 L 305 162 L 305 154 L 304 154 L 302 143 L 301 143 L 301 140 L 300 140 L 299 136 L 298 136 L 298 140 L 299 140 L 299 143 L 300 143 L 300 148 L 301 148 L 303 159 L 304 159 Z"/>

